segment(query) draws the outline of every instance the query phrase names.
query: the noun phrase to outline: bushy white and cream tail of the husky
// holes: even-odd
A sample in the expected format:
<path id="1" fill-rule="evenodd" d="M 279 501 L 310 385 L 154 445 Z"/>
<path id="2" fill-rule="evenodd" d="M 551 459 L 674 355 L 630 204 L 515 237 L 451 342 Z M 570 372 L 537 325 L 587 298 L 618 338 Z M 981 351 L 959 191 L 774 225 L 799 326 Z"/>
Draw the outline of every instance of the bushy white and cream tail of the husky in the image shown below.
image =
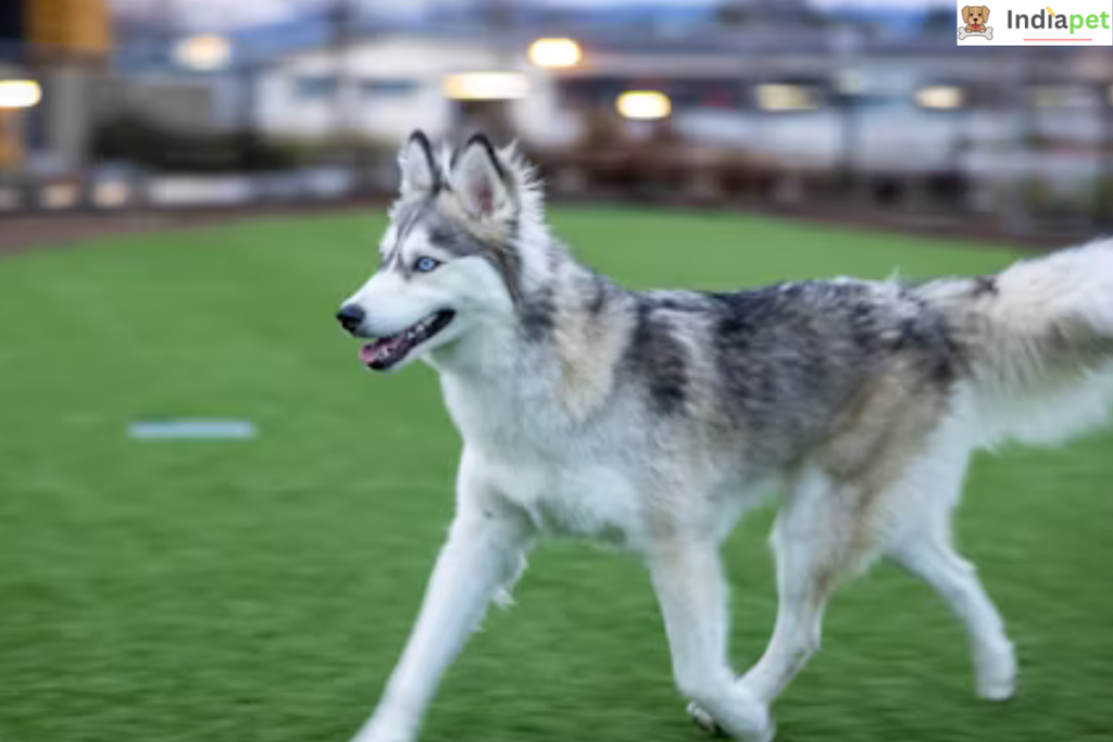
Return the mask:
<path id="1" fill-rule="evenodd" d="M 1113 403 L 1113 240 L 923 288 L 956 333 L 984 443 L 1052 444 Z"/>

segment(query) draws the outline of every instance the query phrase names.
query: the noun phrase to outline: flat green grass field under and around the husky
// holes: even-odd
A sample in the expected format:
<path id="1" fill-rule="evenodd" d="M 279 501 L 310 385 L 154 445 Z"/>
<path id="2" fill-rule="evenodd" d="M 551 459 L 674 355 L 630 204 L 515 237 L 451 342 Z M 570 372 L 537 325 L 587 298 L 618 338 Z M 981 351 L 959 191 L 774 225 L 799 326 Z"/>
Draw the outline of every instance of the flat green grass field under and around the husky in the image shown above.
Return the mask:
<path id="1" fill-rule="evenodd" d="M 725 215 L 554 221 L 637 287 L 1016 257 Z M 368 375 L 332 318 L 382 227 L 255 222 L 0 261 L 0 742 L 345 742 L 363 722 L 445 533 L 460 446 L 433 373 Z M 164 416 L 246 417 L 262 435 L 127 437 Z M 1018 647 L 1014 701 L 975 701 L 958 624 L 879 566 L 836 597 L 779 739 L 1113 739 L 1111 443 L 972 473 L 958 531 Z M 770 520 L 728 545 L 739 670 L 772 627 Z M 452 667 L 423 740 L 700 739 L 633 557 L 550 544 L 516 597 Z"/>

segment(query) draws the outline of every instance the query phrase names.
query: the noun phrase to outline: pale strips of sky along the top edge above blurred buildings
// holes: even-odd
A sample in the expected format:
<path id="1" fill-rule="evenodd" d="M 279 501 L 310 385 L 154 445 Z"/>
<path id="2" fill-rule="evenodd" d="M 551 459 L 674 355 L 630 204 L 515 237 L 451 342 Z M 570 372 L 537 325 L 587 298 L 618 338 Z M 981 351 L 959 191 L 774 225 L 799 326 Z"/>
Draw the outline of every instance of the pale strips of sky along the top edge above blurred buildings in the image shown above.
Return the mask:
<path id="1" fill-rule="evenodd" d="M 137 16 L 158 17 L 167 9 L 178 22 L 194 28 L 234 28 L 270 23 L 328 0 L 109 0 L 117 9 Z M 544 6 L 598 8 L 622 4 L 678 4 L 680 0 L 520 0 Z M 721 0 L 683 0 L 693 6 L 713 6 Z M 467 4 L 467 0 L 361 0 L 384 16 L 417 17 L 434 7 Z M 948 0 L 811 0 L 821 8 L 928 8 L 949 6 Z"/>

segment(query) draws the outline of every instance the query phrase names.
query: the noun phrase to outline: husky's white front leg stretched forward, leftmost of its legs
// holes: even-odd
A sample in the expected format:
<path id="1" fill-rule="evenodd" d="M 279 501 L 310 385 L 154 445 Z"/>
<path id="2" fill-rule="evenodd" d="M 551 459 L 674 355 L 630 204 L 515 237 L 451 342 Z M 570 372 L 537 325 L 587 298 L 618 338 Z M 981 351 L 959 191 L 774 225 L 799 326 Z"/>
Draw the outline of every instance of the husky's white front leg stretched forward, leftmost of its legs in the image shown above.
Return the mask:
<path id="1" fill-rule="evenodd" d="M 441 676 L 483 619 L 495 591 L 524 568 L 532 530 L 496 502 L 465 454 L 457 511 L 417 624 L 374 716 L 355 742 L 412 742 Z"/>

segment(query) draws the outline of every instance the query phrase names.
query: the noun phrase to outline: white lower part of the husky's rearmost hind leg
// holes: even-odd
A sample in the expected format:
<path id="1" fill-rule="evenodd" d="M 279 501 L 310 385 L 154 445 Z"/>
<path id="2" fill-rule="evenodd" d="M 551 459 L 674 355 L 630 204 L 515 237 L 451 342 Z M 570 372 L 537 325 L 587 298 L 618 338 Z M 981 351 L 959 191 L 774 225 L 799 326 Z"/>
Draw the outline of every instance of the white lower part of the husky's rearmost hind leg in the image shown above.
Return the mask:
<path id="1" fill-rule="evenodd" d="M 928 535 L 900 544 L 894 556 L 935 587 L 966 624 L 978 695 L 991 701 L 1012 698 L 1016 683 L 1013 644 L 974 566 L 958 556 L 946 538 Z"/>

